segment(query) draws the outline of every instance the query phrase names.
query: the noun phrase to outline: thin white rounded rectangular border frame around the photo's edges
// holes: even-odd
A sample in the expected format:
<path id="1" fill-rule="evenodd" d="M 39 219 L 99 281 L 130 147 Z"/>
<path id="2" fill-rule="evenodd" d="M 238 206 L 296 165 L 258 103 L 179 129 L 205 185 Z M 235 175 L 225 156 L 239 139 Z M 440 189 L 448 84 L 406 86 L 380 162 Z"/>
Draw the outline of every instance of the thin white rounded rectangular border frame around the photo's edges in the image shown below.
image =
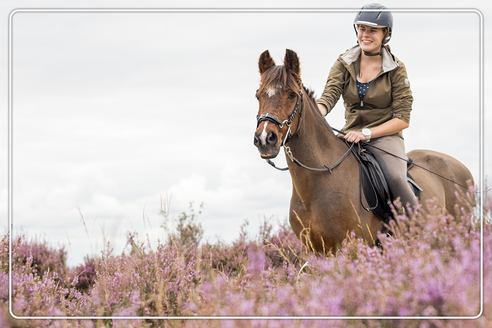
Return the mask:
<path id="1" fill-rule="evenodd" d="M 378 11 L 381 9 L 378 9 Z M 8 218 L 9 218 L 9 312 L 15 319 L 477 319 L 484 308 L 483 201 L 480 202 L 480 313 L 474 317 L 18 317 L 12 313 L 12 17 L 17 12 L 355 12 L 361 9 L 16 9 L 8 25 Z M 362 11 L 374 11 L 366 10 Z M 391 9 L 392 12 L 475 12 L 480 16 L 480 194 L 484 195 L 484 21 L 477 9 Z"/>

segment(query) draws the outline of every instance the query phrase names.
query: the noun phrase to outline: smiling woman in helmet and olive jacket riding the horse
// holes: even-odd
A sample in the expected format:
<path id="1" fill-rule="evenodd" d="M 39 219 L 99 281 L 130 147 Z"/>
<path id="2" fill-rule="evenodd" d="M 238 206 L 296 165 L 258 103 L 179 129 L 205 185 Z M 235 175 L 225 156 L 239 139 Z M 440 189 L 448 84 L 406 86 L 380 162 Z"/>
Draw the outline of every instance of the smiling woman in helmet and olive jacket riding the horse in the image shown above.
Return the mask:
<path id="1" fill-rule="evenodd" d="M 378 3 L 361 9 L 387 9 Z M 354 21 L 358 45 L 338 57 L 328 76 L 319 111 L 327 115 L 340 95 L 345 105 L 346 124 L 341 129 L 349 142 L 369 142 L 398 157 L 406 158 L 402 130 L 409 126 L 412 91 L 403 63 L 385 45 L 393 30 L 389 11 L 360 11 Z M 403 205 L 417 201 L 406 180 L 407 163 L 384 151 L 369 147 L 386 162 Z"/>

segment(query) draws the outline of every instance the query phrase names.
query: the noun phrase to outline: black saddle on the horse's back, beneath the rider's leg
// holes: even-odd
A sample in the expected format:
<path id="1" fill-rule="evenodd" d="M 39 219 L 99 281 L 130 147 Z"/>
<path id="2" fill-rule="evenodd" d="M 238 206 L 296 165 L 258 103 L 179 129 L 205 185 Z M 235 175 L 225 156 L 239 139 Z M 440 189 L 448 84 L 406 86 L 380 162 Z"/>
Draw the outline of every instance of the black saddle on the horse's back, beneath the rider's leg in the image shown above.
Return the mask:
<path id="1" fill-rule="evenodd" d="M 384 223 L 388 224 L 393 218 L 388 201 L 400 196 L 391 180 L 388 167 L 380 155 L 363 146 L 359 146 L 359 151 L 354 151 L 354 153 L 360 162 L 361 204 L 363 203 L 362 192 L 364 191 L 369 208 L 366 208 L 364 204 L 363 207 L 368 211 L 372 210 Z M 408 170 L 413 166 L 413 160 L 407 158 L 407 162 L 407 181 L 415 196 L 420 198 L 420 191 L 423 190 L 408 173 Z M 384 233 L 385 231 L 386 228 L 383 227 L 381 232 Z"/>

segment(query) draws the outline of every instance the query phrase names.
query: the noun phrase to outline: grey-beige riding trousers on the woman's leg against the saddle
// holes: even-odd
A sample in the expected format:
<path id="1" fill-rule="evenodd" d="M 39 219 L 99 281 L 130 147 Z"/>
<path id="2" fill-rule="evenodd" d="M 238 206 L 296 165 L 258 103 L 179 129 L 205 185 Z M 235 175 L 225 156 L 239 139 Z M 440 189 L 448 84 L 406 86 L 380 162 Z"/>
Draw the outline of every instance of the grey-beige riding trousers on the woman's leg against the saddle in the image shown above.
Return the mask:
<path id="1" fill-rule="evenodd" d="M 397 155 L 400 158 L 406 158 L 405 144 L 403 142 L 403 139 L 398 136 L 385 136 L 373 139 L 369 141 L 369 145 L 384 149 L 392 154 Z M 407 203 L 409 203 L 411 207 L 416 206 L 417 201 L 415 200 L 415 195 L 413 194 L 413 190 L 410 187 L 410 184 L 406 180 L 407 162 L 379 149 L 375 149 L 372 147 L 367 148 L 369 151 L 377 153 L 384 159 L 386 166 L 388 166 L 388 170 L 390 171 L 390 176 L 393 180 L 393 184 L 400 194 L 401 203 L 404 206 L 406 206 Z"/>

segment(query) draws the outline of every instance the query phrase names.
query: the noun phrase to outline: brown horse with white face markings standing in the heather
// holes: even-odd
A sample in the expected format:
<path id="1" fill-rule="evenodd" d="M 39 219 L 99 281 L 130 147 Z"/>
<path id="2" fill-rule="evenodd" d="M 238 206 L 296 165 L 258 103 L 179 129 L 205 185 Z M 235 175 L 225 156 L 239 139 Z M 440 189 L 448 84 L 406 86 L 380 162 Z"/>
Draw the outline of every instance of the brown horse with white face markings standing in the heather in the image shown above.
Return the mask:
<path id="1" fill-rule="evenodd" d="M 312 91 L 303 86 L 297 54 L 287 49 L 284 65 L 276 66 L 267 50 L 261 54 L 258 66 L 259 123 L 254 145 L 261 157 L 274 158 L 284 146 L 287 158 L 293 155 L 310 168 L 331 166 L 343 158 L 349 148 L 319 113 Z M 431 150 L 413 150 L 407 155 L 415 164 L 462 185 L 473 181 L 468 169 L 448 155 Z M 332 174 L 287 162 L 292 177 L 289 220 L 298 238 L 305 242 L 301 233 L 308 232 L 312 247 L 318 252 L 334 249 L 351 231 L 369 244 L 374 242 L 383 223 L 361 205 L 359 162 L 355 156 L 346 156 L 331 169 Z M 439 207 L 454 213 L 458 203 L 456 184 L 417 166 L 410 173 L 423 188 L 422 203 L 435 198 Z"/>

